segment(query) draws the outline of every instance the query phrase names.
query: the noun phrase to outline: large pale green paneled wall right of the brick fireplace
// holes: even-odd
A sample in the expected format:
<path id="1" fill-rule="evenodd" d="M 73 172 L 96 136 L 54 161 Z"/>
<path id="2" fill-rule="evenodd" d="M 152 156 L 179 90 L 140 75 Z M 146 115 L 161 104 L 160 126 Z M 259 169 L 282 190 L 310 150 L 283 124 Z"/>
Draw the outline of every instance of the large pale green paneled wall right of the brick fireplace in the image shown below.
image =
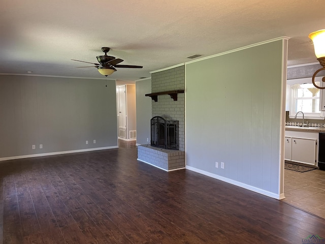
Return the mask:
<path id="1" fill-rule="evenodd" d="M 282 42 L 186 64 L 187 169 L 278 198 Z"/>

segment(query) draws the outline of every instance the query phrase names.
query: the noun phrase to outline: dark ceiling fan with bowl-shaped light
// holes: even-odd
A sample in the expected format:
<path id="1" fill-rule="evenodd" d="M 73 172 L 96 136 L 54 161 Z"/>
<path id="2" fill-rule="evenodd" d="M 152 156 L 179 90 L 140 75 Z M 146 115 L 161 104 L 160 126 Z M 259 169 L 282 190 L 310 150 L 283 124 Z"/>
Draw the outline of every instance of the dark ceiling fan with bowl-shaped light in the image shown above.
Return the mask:
<path id="1" fill-rule="evenodd" d="M 114 71 L 117 71 L 115 68 L 143 68 L 143 66 L 138 66 L 138 65 L 119 65 L 119 63 L 123 62 L 124 60 L 107 55 L 109 50 L 110 50 L 109 47 L 102 47 L 102 51 L 105 52 L 105 55 L 96 56 L 99 64 L 81 61 L 77 59 L 71 59 L 71 60 L 83 62 L 87 64 L 93 64 L 94 66 L 84 66 L 78 68 L 96 67 L 98 71 L 105 76 L 111 75 L 114 73 Z"/>

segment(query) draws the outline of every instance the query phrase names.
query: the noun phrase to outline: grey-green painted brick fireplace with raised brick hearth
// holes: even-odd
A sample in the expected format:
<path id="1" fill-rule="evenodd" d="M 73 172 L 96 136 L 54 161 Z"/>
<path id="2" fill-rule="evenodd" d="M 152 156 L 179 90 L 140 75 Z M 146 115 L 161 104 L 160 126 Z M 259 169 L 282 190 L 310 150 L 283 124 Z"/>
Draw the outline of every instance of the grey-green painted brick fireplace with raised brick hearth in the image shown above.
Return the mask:
<path id="1" fill-rule="evenodd" d="M 151 74 L 151 92 L 160 93 L 185 89 L 185 66 L 154 72 Z M 148 99 L 150 99 L 148 97 Z M 160 116 L 166 120 L 178 121 L 179 150 L 138 145 L 138 160 L 166 171 L 185 168 L 185 94 L 177 95 L 177 101 L 169 95 L 152 100 L 152 117 Z"/>

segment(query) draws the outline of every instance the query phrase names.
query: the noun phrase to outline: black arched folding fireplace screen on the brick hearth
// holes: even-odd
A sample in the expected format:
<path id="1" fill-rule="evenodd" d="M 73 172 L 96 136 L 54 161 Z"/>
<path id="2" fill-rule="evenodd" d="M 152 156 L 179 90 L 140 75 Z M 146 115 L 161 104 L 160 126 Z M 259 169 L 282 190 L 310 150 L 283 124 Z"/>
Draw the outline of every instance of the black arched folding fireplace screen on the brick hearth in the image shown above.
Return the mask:
<path id="1" fill-rule="evenodd" d="M 150 120 L 151 146 L 165 149 L 179 149 L 178 120 L 166 120 L 155 116 Z"/>

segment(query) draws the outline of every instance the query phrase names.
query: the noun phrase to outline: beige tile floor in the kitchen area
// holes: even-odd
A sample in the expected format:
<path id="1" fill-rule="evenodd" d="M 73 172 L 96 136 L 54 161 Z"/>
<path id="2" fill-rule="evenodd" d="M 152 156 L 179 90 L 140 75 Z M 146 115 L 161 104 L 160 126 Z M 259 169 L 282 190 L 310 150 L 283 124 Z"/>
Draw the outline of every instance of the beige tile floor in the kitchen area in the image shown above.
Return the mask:
<path id="1" fill-rule="evenodd" d="M 325 171 L 285 169 L 284 196 L 282 201 L 325 219 Z"/>

